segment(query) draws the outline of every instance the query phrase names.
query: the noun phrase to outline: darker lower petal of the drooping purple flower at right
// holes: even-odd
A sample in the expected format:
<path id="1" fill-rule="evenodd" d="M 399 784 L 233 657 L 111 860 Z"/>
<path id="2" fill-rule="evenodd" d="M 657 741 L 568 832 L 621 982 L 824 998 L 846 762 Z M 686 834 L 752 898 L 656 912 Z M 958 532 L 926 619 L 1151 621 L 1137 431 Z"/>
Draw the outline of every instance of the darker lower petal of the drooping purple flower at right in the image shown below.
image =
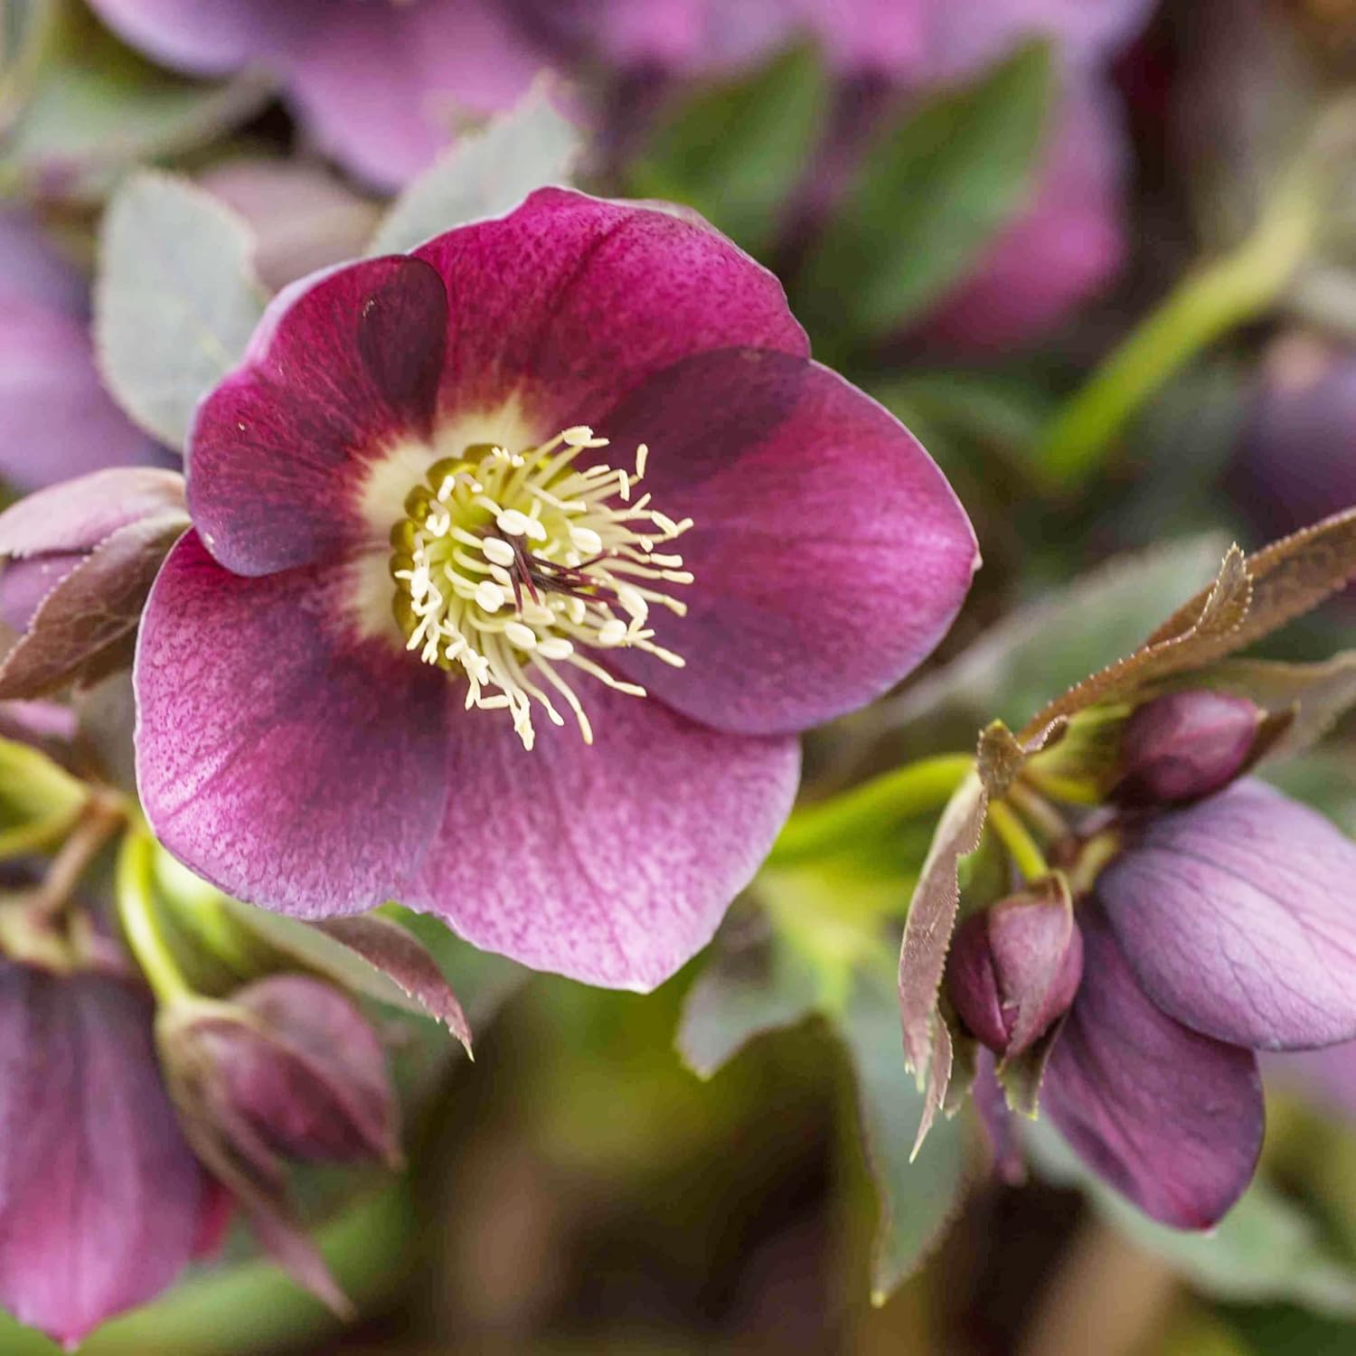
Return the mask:
<path id="1" fill-rule="evenodd" d="M 1257 1166 L 1257 1059 L 1159 1012 L 1096 904 L 1079 909 L 1078 923 L 1085 978 L 1045 1067 L 1041 1106 L 1146 1215 L 1210 1229 Z"/>

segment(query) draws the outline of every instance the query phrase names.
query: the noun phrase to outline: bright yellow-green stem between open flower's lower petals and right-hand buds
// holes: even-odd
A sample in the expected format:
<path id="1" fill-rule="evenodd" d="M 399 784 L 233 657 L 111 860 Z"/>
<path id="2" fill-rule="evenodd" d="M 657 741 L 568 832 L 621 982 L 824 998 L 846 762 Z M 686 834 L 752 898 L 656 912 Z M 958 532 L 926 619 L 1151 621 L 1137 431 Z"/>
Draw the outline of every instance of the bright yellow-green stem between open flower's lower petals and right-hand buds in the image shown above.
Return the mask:
<path id="1" fill-rule="evenodd" d="M 896 767 L 831 800 L 803 805 L 786 822 L 769 862 L 785 865 L 843 846 L 864 830 L 941 810 L 974 769 L 970 754 L 942 754 Z"/>

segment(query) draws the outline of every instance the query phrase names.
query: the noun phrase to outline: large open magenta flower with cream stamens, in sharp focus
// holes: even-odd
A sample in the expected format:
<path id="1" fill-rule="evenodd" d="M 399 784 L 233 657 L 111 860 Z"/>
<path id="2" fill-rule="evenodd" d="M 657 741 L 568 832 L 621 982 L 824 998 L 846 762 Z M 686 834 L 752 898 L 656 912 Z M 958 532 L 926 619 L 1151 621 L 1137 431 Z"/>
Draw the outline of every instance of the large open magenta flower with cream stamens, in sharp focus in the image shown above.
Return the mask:
<path id="1" fill-rule="evenodd" d="M 978 563 L 951 487 L 776 279 L 542 190 L 279 296 L 191 434 L 142 621 L 142 801 L 229 894 L 386 899 L 651 987 Z"/>

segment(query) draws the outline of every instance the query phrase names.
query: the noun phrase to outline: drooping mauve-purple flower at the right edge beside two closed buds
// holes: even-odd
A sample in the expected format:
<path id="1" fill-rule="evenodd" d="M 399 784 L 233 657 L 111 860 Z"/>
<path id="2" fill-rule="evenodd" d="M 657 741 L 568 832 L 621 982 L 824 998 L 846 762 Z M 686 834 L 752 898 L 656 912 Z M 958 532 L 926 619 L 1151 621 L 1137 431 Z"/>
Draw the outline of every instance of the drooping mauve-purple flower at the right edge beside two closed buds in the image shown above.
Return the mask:
<path id="1" fill-rule="evenodd" d="M 1208 1229 L 1261 1149 L 1256 1051 L 1356 1035 L 1356 843 L 1252 780 L 1125 833 L 1078 907 L 1083 982 L 1041 1101 L 1140 1210 Z"/>

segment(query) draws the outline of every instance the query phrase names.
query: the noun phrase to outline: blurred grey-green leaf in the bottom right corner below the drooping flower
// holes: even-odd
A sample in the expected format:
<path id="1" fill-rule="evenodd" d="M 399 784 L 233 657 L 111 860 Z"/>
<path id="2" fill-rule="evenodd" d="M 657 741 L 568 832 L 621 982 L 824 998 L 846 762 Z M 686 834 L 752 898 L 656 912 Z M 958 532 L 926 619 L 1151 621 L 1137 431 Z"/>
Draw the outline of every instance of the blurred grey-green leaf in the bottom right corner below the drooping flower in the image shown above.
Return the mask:
<path id="1" fill-rule="evenodd" d="M 1264 1178 L 1211 1233 L 1184 1233 L 1155 1223 L 1092 1176 L 1044 1121 L 1025 1127 L 1024 1138 L 1047 1177 L 1082 1186 L 1100 1214 L 1197 1290 L 1226 1300 L 1295 1300 L 1326 1314 L 1356 1314 L 1356 1272 L 1302 1207 Z"/>

